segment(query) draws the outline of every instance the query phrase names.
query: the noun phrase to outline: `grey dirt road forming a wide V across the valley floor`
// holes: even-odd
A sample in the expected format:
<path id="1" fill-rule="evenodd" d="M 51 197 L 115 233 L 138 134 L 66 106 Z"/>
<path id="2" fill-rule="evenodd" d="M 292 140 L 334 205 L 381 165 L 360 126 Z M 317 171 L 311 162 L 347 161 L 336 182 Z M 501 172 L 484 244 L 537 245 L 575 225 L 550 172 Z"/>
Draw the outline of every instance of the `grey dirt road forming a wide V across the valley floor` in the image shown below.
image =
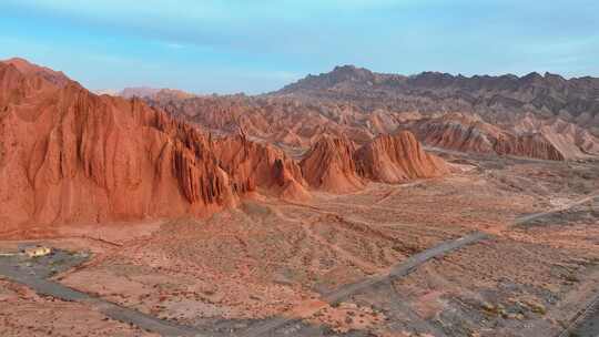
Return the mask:
<path id="1" fill-rule="evenodd" d="M 599 194 L 583 197 L 579 201 L 572 202 L 565 207 L 521 216 L 517 218 L 512 225 L 522 225 L 530 219 L 566 211 L 597 197 L 599 197 Z M 367 290 L 368 288 L 388 284 L 394 279 L 408 275 L 412 270 L 423 265 L 427 261 L 430 261 L 432 258 L 443 256 L 466 245 L 475 244 L 489 237 L 491 237 L 490 234 L 483 232 L 474 232 L 456 239 L 443 242 L 435 247 L 418 253 L 407 258 L 403 263 L 393 266 L 388 273 L 368 277 L 361 282 L 342 286 L 334 292 L 323 295 L 321 298 L 321 305 L 314 305 L 314 303 L 306 304 L 305 306 L 300 305 L 300 307 L 292 308 L 288 313 L 286 313 L 286 317 L 278 317 L 267 320 L 264 324 L 258 324 L 257 326 L 254 326 L 246 330 L 242 336 L 268 336 L 273 334 L 277 328 L 281 328 L 294 321 L 300 321 L 303 318 L 307 318 L 321 310 L 322 308 L 326 307 L 327 305 L 334 305 L 343 302 L 355 294 Z M 135 325 L 142 329 L 158 333 L 162 336 L 206 336 L 202 331 L 193 327 L 176 325 L 171 321 L 159 319 L 150 315 L 140 313 L 138 310 L 122 307 L 116 304 L 103 300 L 101 298 L 93 297 L 89 294 L 71 289 L 59 283 L 49 280 L 43 276 L 28 273 L 27 269 L 14 266 L 9 259 L 6 258 L 0 258 L 0 276 L 28 286 L 42 295 L 50 295 L 64 300 L 73 300 L 88 304 L 97 308 L 99 312 L 103 313 L 108 317 Z"/>

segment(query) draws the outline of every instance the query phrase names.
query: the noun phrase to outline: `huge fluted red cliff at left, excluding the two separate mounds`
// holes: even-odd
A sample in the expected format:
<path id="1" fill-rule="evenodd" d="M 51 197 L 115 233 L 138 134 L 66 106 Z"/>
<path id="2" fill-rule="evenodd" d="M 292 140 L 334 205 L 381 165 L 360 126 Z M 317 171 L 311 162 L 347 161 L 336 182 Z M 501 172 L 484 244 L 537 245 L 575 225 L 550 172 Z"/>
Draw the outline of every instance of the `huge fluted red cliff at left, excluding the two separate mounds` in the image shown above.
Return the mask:
<path id="1" fill-rule="evenodd" d="M 0 62 L 3 229 L 204 215 L 257 188 L 302 192 L 300 167 L 266 145 L 213 141 L 138 99 L 98 96 L 34 67 Z"/>

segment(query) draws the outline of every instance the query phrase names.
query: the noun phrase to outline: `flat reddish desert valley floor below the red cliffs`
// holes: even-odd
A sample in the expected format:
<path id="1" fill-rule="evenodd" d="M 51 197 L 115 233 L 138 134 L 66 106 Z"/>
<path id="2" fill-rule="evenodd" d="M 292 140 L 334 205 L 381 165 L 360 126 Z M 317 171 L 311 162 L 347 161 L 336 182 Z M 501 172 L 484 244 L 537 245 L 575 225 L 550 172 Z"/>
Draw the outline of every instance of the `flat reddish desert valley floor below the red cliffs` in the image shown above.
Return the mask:
<path id="1" fill-rule="evenodd" d="M 0 256 L 0 335 L 598 336 L 599 162 L 439 154 L 443 178 L 3 233 L 60 258 Z"/>

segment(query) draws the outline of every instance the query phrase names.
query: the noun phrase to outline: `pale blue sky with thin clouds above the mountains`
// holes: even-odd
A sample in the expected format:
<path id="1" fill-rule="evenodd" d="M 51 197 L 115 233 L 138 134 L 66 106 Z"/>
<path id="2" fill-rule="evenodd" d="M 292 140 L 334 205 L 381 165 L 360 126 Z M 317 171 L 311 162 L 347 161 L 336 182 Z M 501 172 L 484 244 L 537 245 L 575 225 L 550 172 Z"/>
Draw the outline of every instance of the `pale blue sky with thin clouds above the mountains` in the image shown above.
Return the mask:
<path id="1" fill-rule="evenodd" d="M 597 0 L 1 0 L 0 59 L 89 89 L 276 90 L 337 64 L 599 75 Z"/>

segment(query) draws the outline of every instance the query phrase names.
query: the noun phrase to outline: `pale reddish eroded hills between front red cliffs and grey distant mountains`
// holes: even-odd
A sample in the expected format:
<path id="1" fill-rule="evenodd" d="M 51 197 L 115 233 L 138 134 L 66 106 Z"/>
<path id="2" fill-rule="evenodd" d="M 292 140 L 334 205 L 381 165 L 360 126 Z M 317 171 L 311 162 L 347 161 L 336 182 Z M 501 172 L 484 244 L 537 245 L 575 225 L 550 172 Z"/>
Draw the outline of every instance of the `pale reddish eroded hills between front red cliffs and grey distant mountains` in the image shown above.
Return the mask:
<path id="1" fill-rule="evenodd" d="M 293 95 L 182 99 L 166 91 L 146 101 L 207 131 L 227 134 L 242 127 L 253 139 L 285 149 L 307 149 L 322 134 L 345 136 L 364 145 L 378 135 L 407 129 L 427 145 L 457 151 L 558 161 L 599 154 L 599 140 L 588 130 L 559 118 L 544 119 L 532 113 L 506 114 L 491 124 L 476 113 L 427 114 L 387 108 L 368 111 L 352 101 Z"/>

